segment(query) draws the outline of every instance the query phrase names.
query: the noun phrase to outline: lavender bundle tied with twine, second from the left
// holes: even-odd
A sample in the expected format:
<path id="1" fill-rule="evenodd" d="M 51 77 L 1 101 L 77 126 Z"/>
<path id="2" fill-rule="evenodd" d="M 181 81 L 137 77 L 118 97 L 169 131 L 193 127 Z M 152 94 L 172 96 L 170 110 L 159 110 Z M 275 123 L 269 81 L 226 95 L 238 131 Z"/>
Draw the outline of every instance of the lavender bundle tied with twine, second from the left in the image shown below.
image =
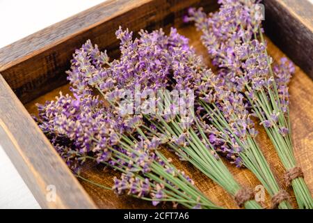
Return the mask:
<path id="1" fill-rule="evenodd" d="M 118 108 L 123 116 L 132 116 L 134 113 L 144 114 L 145 125 L 136 126 L 138 134 L 150 140 L 161 138 L 166 145 L 176 151 L 179 157 L 194 164 L 232 194 L 239 206 L 261 208 L 253 201 L 252 190 L 236 183 L 214 152 L 199 123 L 193 125 L 193 109 L 183 109 L 179 114 L 175 113 L 175 108 L 186 108 L 186 104 L 193 105 L 192 98 L 191 101 L 180 98 L 173 102 L 166 91 L 175 89 L 184 90 L 186 93 L 188 90 L 178 88 L 175 78 L 170 78 L 175 64 L 173 60 L 177 59 L 173 55 L 178 53 L 179 49 L 188 49 L 188 40 L 179 35 L 176 29 L 172 29 L 169 36 L 165 36 L 161 30 L 152 33 L 141 31 L 139 35 L 141 38 L 132 40 L 132 33 L 129 31 L 122 31 L 122 29 L 117 31 L 117 37 L 121 40 L 122 55 L 120 60 L 111 63 L 106 56 L 102 56 L 106 58 L 105 63 L 109 65 L 107 68 L 95 66 L 94 62 L 90 62 L 95 61 L 93 59 L 95 52 L 98 55 L 105 54 L 98 52 L 97 47 L 90 45 L 90 42 L 86 43 L 77 51 L 73 62 L 89 62 L 72 66 L 72 71 L 69 72 L 70 82 L 74 86 L 72 91 L 88 95 L 91 89 L 97 89 L 104 100 L 112 107 Z M 86 55 L 87 58 L 86 56 L 82 58 L 81 55 Z M 84 70 L 89 71 L 84 72 Z M 161 94 L 155 97 L 155 93 L 160 92 Z M 150 95 L 150 100 L 146 100 L 141 105 L 141 99 L 147 94 Z M 139 102 L 136 95 L 139 95 Z M 138 102 L 135 107 L 134 102 L 135 104 Z M 150 111 L 145 110 L 147 107 L 150 107 Z M 188 112 L 191 116 L 188 116 Z M 195 131 L 200 132 L 201 135 L 198 136 Z"/>

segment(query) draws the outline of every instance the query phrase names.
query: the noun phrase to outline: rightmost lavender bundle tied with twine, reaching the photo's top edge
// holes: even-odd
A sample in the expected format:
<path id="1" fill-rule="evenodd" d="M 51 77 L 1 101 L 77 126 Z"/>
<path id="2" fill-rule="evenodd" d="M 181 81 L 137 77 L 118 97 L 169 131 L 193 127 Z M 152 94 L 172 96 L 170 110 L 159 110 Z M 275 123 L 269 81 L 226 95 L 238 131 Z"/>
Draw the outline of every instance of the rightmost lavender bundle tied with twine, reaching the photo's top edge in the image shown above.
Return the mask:
<path id="1" fill-rule="evenodd" d="M 264 126 L 286 169 L 285 183 L 294 187 L 299 208 L 313 208 L 313 199 L 303 179 L 303 172 L 296 166 L 291 141 L 287 85 L 294 66 L 287 59 L 281 59 L 272 68 L 273 59 L 266 52 L 261 27 L 262 15 L 254 0 L 220 0 L 219 3 L 220 10 L 209 17 L 201 9 L 189 10 L 190 17 L 186 21 L 195 21 L 197 28 L 202 31 L 202 43 L 207 47 L 214 66 L 218 67 L 218 76 L 232 91 L 232 101 L 248 100 L 252 114 Z M 216 125 L 225 122 L 225 118 L 216 114 L 215 109 L 204 107 L 214 112 Z M 234 116 L 228 114 L 231 118 Z M 243 117 L 247 118 L 248 112 Z M 248 125 L 242 124 L 235 123 L 246 129 Z M 250 143 L 256 145 L 254 141 Z M 245 160 L 243 163 L 246 165 Z"/>

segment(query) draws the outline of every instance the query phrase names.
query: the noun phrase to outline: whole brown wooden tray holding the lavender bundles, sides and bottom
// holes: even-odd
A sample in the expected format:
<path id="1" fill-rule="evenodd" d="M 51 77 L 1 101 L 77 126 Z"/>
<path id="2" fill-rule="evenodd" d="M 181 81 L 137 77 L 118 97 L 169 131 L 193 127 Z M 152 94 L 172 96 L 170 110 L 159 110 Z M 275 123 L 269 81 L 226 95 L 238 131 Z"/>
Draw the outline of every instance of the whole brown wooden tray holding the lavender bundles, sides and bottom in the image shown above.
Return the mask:
<path id="1" fill-rule="evenodd" d="M 305 0 L 266 0 L 264 4 L 269 53 L 274 59 L 286 53 L 298 65 L 289 88 L 294 153 L 313 191 L 312 5 Z M 74 49 L 87 39 L 100 49 L 107 49 L 109 56 L 117 57 L 118 40 L 114 33 L 120 25 L 135 33 L 160 27 L 168 31 L 170 26 L 175 26 L 191 38 L 191 45 L 208 61 L 200 33 L 182 23 L 182 16 L 190 6 L 202 6 L 207 12 L 218 8 L 213 0 L 113 0 L 0 49 L 0 143 L 42 208 L 152 208 L 147 201 L 118 197 L 111 191 L 79 182 L 30 114 L 36 113 L 36 102 L 51 100 L 58 91 L 68 91 L 65 70 L 70 68 Z M 257 140 L 282 183 L 282 164 L 264 130 L 259 128 L 259 131 Z M 177 160 L 175 164 L 191 175 L 212 201 L 226 208 L 236 208 L 232 197 L 191 164 Z M 248 169 L 236 169 L 231 164 L 227 167 L 242 185 L 259 185 Z M 83 168 L 83 176 L 104 185 L 112 185 L 112 177 L 116 175 L 115 171 L 91 164 Z M 55 202 L 46 199 L 48 185 L 56 186 Z M 296 207 L 293 192 L 288 191 Z M 268 198 L 264 206 L 268 206 Z"/>

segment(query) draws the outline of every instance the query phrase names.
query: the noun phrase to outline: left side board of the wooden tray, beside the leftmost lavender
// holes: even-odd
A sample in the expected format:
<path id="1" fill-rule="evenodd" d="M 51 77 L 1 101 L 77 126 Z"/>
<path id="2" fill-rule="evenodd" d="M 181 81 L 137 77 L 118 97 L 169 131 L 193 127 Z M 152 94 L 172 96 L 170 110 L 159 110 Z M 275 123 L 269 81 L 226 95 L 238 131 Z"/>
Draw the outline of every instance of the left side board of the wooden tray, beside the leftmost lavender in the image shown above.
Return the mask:
<path id="1" fill-rule="evenodd" d="M 0 139 L 42 208 L 95 208 L 33 118 L 0 75 Z M 56 188 L 56 200 L 48 185 Z"/>

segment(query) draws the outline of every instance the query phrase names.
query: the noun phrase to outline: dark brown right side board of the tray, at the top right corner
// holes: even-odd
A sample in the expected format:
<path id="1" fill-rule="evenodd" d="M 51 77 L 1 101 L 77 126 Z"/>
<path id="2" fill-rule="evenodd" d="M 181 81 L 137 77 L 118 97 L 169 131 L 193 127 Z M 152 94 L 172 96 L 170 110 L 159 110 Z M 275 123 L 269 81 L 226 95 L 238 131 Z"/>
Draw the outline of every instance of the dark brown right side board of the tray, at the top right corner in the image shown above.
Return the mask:
<path id="1" fill-rule="evenodd" d="M 265 31 L 313 78 L 313 4 L 307 0 L 266 0 Z"/>

